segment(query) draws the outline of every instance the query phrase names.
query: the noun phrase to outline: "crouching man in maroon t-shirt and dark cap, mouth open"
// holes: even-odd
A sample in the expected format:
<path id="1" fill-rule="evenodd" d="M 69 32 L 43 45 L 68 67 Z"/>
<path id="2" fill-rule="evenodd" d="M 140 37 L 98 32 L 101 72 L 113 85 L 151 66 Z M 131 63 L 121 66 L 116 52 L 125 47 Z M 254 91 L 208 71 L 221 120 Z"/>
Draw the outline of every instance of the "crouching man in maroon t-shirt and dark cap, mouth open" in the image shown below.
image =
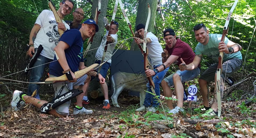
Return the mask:
<path id="1" fill-rule="evenodd" d="M 166 43 L 164 52 L 162 53 L 162 62 L 161 66 L 154 70 L 146 70 L 147 77 L 153 76 L 158 72 L 165 70 L 171 64 L 179 65 L 181 63 L 191 63 L 195 57 L 195 53 L 189 44 L 181 41 L 176 38 L 175 32 L 173 29 L 169 28 L 163 31 L 164 40 Z M 177 106 L 173 108 L 173 101 L 167 100 L 167 106 L 169 107 L 168 113 L 176 114 L 179 111 L 183 111 L 183 93 L 184 88 L 182 83 L 186 81 L 193 80 L 200 73 L 200 65 L 194 70 L 178 70 L 177 72 L 166 77 L 162 82 L 163 93 L 166 97 L 172 97 L 171 86 L 175 88 L 175 94 L 178 99 Z"/>

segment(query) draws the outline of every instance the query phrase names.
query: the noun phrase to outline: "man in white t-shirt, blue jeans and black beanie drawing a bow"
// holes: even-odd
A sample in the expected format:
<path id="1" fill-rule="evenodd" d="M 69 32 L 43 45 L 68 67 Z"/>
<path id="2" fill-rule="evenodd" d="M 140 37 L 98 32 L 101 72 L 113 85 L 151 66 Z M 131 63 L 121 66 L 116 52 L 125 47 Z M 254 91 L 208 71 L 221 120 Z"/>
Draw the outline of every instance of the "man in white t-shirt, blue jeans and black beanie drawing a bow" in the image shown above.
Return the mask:
<path id="1" fill-rule="evenodd" d="M 144 30 L 145 30 L 145 24 L 138 24 L 136 26 L 136 31 L 137 31 L 137 35 L 139 35 L 139 38 L 135 39 L 135 42 L 137 44 L 141 44 L 143 43 L 143 35 L 144 35 Z M 152 61 L 152 66 L 153 68 L 157 68 L 158 66 L 160 66 L 162 64 L 162 57 L 161 57 L 161 53 L 163 52 L 163 49 L 160 45 L 160 43 L 158 42 L 158 38 L 151 32 L 147 32 L 147 38 L 146 38 L 146 43 L 147 43 L 147 49 L 148 49 L 148 53 L 149 53 L 149 57 Z M 160 83 L 163 79 L 163 77 L 165 76 L 165 73 L 169 70 L 169 67 L 167 67 L 165 69 L 165 71 L 163 72 L 159 72 L 157 73 L 157 75 L 155 75 L 152 79 L 153 82 L 155 84 L 155 94 L 157 96 L 160 96 Z M 150 87 L 149 87 L 149 83 L 147 83 L 147 91 L 151 91 Z M 158 100 L 156 100 L 154 96 L 150 93 L 146 93 L 146 97 L 145 97 L 145 101 L 143 103 L 143 105 L 141 107 L 139 107 L 138 109 L 136 109 L 136 111 L 151 111 L 151 112 L 155 112 L 155 108 L 159 106 L 159 102 Z M 152 101 L 152 104 L 151 104 Z M 150 107 L 151 105 L 151 107 Z"/>

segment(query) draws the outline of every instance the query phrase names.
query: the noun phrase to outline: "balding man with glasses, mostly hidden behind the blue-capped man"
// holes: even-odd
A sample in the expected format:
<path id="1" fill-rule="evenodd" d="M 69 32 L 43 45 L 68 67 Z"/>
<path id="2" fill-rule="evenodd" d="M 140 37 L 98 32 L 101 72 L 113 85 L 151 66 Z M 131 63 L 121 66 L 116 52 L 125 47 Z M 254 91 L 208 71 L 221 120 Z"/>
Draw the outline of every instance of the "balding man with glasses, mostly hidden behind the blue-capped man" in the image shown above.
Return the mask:
<path id="1" fill-rule="evenodd" d="M 80 29 L 82 24 L 81 21 L 84 19 L 85 12 L 82 8 L 76 8 L 73 12 L 73 21 L 66 21 L 70 26 L 70 29 Z"/>

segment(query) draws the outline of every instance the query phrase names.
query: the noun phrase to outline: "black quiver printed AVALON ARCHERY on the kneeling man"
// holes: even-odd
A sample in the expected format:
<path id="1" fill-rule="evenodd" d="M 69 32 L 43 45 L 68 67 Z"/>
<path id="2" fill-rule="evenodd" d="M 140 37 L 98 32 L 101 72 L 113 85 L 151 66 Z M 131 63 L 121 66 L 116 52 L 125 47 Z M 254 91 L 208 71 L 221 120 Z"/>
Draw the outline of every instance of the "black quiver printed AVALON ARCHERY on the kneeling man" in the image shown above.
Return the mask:
<path id="1" fill-rule="evenodd" d="M 53 99 L 52 101 L 43 104 L 43 106 L 41 106 L 41 108 L 40 108 L 41 113 L 46 114 L 50 110 L 58 107 L 59 105 L 62 105 L 66 101 L 69 101 L 70 99 L 72 99 L 72 98 L 74 98 L 77 95 L 82 94 L 82 93 L 83 93 L 83 90 L 80 91 L 78 89 L 73 89 L 73 90 L 70 90 L 70 91 L 66 92 L 63 95 L 59 95 L 55 99 Z"/>

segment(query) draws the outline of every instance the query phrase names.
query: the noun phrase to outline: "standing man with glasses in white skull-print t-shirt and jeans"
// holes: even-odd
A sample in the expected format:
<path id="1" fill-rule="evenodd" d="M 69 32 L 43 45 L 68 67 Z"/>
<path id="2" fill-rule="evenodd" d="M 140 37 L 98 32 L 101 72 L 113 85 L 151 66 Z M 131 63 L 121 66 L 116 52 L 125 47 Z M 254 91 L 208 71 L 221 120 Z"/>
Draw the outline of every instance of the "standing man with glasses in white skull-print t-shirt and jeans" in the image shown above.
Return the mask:
<path id="1" fill-rule="evenodd" d="M 69 25 L 66 24 L 63 18 L 70 14 L 73 6 L 74 3 L 72 0 L 62 0 L 62 2 L 59 3 L 59 10 L 57 13 L 63 23 L 57 23 L 53 12 L 50 10 L 43 10 L 37 17 L 29 35 L 30 47 L 28 55 L 32 57 L 35 53 L 35 48 L 38 48 L 39 45 L 43 46 L 43 50 L 33 65 L 33 67 L 38 67 L 31 69 L 30 82 L 40 82 L 46 66 L 49 65 L 47 63 L 53 61 L 53 48 L 58 44 L 60 38 L 58 28 L 63 31 L 69 29 Z M 35 97 L 40 99 L 38 89 L 39 84 L 29 84 L 27 94 L 31 96 L 33 91 L 37 90 L 37 95 Z"/>

